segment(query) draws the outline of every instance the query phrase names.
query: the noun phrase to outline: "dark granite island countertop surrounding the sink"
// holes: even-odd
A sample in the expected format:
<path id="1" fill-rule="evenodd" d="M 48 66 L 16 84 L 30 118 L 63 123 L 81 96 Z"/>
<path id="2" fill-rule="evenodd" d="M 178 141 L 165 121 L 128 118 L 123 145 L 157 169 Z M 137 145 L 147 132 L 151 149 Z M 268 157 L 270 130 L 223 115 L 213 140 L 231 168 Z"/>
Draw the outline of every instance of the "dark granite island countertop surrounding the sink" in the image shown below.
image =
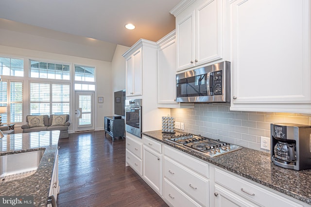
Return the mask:
<path id="1" fill-rule="evenodd" d="M 0 196 L 34 196 L 34 206 L 47 206 L 60 131 L 5 135 L 0 139 L 0 156 L 45 150 L 34 175 L 0 181 Z"/>

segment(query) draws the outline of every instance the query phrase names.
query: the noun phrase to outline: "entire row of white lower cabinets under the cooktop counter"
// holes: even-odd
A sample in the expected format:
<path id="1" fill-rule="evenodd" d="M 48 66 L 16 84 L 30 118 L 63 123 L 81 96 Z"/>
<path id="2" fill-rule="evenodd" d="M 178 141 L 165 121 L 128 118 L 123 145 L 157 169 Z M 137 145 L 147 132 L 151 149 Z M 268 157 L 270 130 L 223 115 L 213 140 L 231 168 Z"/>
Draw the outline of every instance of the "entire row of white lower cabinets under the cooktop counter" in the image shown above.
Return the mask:
<path id="1" fill-rule="evenodd" d="M 126 163 L 171 207 L 311 207 L 146 136 L 126 139 Z"/>

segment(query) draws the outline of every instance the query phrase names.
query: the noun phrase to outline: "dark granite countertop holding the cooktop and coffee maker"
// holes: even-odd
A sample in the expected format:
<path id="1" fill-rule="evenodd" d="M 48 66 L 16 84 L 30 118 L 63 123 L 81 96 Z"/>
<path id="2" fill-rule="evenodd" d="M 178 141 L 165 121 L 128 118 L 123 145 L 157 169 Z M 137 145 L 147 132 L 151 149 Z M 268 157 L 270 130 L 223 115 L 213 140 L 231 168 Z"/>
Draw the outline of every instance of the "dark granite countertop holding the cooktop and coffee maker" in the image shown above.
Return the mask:
<path id="1" fill-rule="evenodd" d="M 249 148 L 210 158 L 180 144 L 166 141 L 172 134 L 162 133 L 161 130 L 142 134 L 311 205 L 311 170 L 296 171 L 278 167 L 271 161 L 270 153 Z"/>

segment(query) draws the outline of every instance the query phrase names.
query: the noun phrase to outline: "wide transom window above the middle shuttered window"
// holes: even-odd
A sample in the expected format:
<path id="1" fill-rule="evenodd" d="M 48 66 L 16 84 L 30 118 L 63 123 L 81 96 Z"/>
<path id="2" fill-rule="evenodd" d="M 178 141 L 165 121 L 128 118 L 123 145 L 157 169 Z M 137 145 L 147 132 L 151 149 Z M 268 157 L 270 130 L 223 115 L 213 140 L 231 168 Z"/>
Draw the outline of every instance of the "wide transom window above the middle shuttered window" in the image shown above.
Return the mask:
<path id="1" fill-rule="evenodd" d="M 69 65 L 30 60 L 30 77 L 40 79 L 70 80 Z"/>

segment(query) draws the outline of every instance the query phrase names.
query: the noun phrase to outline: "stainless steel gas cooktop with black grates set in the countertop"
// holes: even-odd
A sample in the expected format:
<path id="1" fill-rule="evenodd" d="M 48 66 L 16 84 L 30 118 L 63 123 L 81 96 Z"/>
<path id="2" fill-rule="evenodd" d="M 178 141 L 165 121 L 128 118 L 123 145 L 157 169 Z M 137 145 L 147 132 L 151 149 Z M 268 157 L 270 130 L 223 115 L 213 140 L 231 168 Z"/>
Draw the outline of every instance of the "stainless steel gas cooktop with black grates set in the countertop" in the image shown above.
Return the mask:
<path id="1" fill-rule="evenodd" d="M 238 149 L 242 149 L 241 146 L 237 146 L 230 143 L 221 142 L 219 140 L 213 140 L 200 135 L 193 134 L 181 134 L 178 136 L 170 136 L 166 139 L 169 142 L 181 144 L 194 151 L 203 153 L 209 157 L 216 157 L 225 153 L 233 152 Z"/>

